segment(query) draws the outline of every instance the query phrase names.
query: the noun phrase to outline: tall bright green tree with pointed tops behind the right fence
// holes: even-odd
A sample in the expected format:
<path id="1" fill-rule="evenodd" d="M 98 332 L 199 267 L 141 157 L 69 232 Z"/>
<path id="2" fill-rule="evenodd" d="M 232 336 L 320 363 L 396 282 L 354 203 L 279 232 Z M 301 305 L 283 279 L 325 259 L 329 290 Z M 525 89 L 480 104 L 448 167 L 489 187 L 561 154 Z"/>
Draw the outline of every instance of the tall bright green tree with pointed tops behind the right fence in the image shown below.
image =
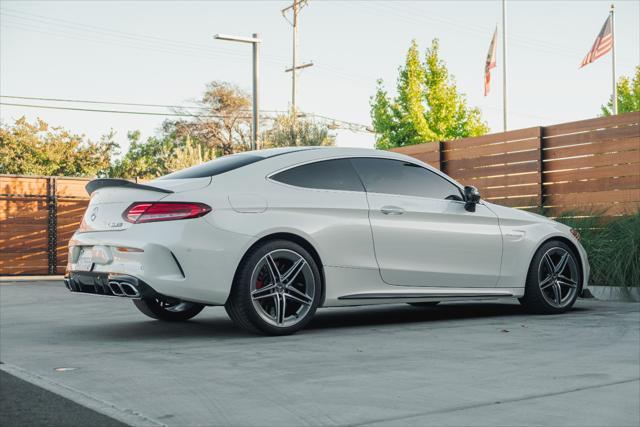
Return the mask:
<path id="1" fill-rule="evenodd" d="M 376 148 L 389 149 L 423 142 L 451 140 L 488 132 L 478 108 L 467 106 L 439 56 L 434 39 L 420 60 L 415 40 L 400 67 L 397 95 L 389 96 L 382 80 L 371 97 L 371 118 L 377 133 Z"/>

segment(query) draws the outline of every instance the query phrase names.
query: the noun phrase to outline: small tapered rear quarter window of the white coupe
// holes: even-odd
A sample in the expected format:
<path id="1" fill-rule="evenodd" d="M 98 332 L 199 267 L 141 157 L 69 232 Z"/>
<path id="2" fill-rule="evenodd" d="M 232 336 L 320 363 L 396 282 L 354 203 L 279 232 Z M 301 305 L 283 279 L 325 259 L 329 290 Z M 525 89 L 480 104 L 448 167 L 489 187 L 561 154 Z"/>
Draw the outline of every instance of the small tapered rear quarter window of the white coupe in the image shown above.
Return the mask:
<path id="1" fill-rule="evenodd" d="M 271 179 L 297 187 L 364 191 L 358 174 L 347 159 L 307 163 L 273 175 Z"/>

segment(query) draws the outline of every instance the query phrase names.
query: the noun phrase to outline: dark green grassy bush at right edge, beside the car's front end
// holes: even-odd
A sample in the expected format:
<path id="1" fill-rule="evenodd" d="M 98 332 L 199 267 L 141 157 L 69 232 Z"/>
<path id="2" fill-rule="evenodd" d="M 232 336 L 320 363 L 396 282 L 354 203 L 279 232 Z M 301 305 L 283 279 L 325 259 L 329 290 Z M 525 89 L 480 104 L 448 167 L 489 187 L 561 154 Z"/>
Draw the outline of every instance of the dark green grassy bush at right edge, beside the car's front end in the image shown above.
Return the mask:
<path id="1" fill-rule="evenodd" d="M 617 218 L 602 212 L 567 212 L 556 220 L 580 232 L 592 285 L 640 286 L 640 211 Z"/>

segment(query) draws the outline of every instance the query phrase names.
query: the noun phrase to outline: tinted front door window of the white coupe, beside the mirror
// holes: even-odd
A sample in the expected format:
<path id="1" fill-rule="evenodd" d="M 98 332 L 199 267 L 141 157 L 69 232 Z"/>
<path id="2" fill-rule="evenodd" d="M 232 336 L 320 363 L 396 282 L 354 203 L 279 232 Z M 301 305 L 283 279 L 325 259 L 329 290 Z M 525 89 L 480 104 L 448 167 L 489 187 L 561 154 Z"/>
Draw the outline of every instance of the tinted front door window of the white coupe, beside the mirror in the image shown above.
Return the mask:
<path id="1" fill-rule="evenodd" d="M 362 178 L 366 191 L 462 200 L 457 186 L 413 163 L 374 158 L 352 159 L 352 163 Z"/>

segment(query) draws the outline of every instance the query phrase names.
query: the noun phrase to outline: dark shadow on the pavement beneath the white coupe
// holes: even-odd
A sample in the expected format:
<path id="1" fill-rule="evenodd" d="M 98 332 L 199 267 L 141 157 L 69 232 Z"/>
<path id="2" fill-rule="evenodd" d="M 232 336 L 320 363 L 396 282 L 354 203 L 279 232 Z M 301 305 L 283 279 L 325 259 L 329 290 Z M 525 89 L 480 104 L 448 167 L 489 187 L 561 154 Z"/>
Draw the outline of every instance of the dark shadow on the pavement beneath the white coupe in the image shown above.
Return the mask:
<path id="1" fill-rule="evenodd" d="M 216 310 L 214 315 L 207 315 L 208 310 Z M 237 328 L 222 307 L 209 308 L 200 316 L 187 322 L 159 322 L 141 318 L 140 321 L 124 321 L 117 323 L 101 323 L 74 325 L 67 331 L 79 340 L 181 340 L 193 338 L 232 339 L 256 337 L 256 335 Z M 586 308 L 574 308 L 572 312 L 588 311 Z M 565 315 L 571 315 L 567 313 Z M 480 318 L 506 318 L 520 316 L 536 316 L 527 313 L 518 304 L 504 303 L 466 303 L 441 304 L 434 307 L 413 307 L 409 305 L 385 305 L 366 307 L 341 307 L 320 309 L 304 330 L 296 336 L 308 333 L 331 333 L 337 329 L 352 329 L 371 326 L 388 326 L 401 324 L 437 323 Z M 447 325 L 447 327 L 464 327 L 464 322 Z M 71 330 L 70 330 L 71 329 Z M 268 339 L 269 337 L 264 337 Z M 271 338 L 271 339 L 277 339 Z"/>

